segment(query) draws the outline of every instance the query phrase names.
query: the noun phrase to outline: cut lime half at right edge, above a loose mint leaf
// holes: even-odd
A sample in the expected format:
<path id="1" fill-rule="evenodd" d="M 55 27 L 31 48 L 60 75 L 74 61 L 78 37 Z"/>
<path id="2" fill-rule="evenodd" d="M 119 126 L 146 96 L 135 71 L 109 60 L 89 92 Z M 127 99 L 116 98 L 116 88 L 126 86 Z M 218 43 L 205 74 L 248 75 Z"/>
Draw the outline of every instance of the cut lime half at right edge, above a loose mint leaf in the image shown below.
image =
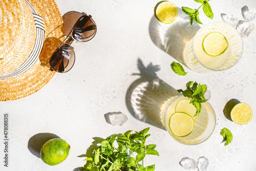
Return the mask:
<path id="1" fill-rule="evenodd" d="M 230 112 L 231 119 L 237 124 L 246 124 L 251 121 L 252 110 L 246 103 L 236 104 Z"/>

